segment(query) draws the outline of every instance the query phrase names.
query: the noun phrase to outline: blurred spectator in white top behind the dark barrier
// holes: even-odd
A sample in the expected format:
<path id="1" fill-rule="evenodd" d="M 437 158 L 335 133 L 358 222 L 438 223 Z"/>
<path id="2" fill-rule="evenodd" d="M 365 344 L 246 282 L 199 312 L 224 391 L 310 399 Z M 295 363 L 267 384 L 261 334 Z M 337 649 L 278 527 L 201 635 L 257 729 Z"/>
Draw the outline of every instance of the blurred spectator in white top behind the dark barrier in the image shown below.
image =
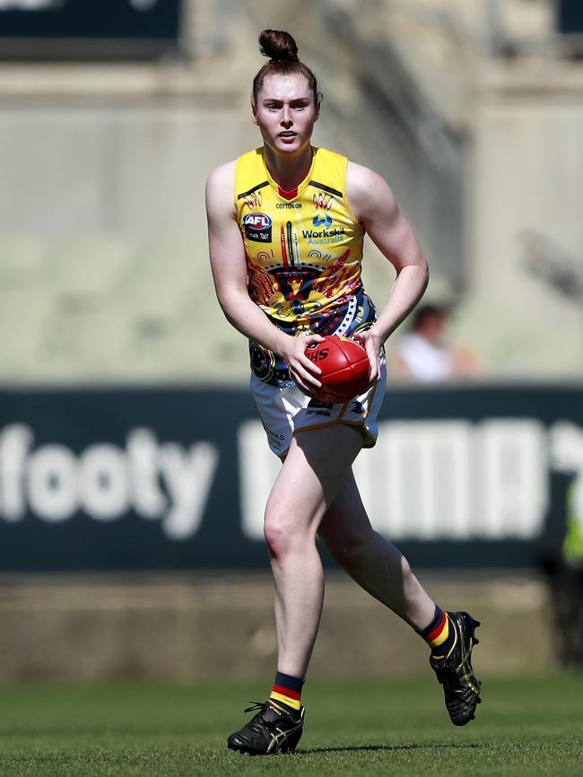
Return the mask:
<path id="1" fill-rule="evenodd" d="M 421 305 L 413 313 L 413 326 L 396 347 L 393 372 L 406 378 L 431 382 L 477 378 L 482 371 L 467 348 L 446 344 L 448 312 L 438 305 Z"/>

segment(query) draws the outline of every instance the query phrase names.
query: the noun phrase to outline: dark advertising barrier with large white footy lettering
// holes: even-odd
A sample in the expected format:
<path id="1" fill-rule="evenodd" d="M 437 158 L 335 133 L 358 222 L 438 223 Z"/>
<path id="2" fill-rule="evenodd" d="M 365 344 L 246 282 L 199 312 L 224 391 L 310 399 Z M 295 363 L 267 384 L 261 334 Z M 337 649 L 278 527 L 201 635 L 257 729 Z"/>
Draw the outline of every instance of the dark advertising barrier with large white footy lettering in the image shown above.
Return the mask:
<path id="1" fill-rule="evenodd" d="M 0 571 L 265 568 L 279 466 L 242 389 L 4 389 Z M 417 566 L 545 563 L 583 514 L 583 389 L 390 389 L 355 471 Z"/>

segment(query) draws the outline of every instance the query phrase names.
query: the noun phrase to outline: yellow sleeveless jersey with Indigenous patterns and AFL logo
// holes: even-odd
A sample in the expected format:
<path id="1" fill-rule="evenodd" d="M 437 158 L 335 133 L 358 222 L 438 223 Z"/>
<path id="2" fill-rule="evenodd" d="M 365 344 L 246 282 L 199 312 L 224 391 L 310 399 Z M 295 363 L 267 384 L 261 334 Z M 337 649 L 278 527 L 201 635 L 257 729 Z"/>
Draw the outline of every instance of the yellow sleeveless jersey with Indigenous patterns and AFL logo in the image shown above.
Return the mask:
<path id="1" fill-rule="evenodd" d="M 345 196 L 347 165 L 346 157 L 314 148 L 306 178 L 285 191 L 269 174 L 263 148 L 237 160 L 235 205 L 249 294 L 290 335 L 350 335 L 375 320 L 361 284 L 364 230 Z M 249 345 L 258 378 L 294 385 L 282 360 Z"/>

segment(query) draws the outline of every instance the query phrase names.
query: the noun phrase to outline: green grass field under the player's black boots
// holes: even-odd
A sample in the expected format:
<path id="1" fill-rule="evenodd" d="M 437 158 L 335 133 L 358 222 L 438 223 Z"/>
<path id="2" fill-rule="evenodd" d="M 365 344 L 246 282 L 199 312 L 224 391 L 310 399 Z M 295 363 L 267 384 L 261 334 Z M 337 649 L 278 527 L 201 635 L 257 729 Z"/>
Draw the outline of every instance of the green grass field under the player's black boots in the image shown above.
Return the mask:
<path id="1" fill-rule="evenodd" d="M 487 679 L 464 729 L 434 678 L 309 679 L 295 754 L 231 753 L 265 685 L 0 686 L 0 775 L 583 775 L 583 674 Z"/>

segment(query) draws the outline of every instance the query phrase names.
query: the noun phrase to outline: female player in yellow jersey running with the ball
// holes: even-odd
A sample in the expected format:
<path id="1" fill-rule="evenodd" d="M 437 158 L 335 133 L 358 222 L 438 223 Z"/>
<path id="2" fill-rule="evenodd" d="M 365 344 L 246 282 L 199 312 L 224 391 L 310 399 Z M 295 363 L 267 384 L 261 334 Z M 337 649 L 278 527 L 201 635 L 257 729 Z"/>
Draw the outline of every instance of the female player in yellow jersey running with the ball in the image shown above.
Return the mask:
<path id="1" fill-rule="evenodd" d="M 352 476 L 354 458 L 376 441 L 383 344 L 422 297 L 427 263 L 387 183 L 312 146 L 321 95 L 292 36 L 265 30 L 259 43 L 269 61 L 254 80 L 251 107 L 263 144 L 213 170 L 206 187 L 217 297 L 248 337 L 251 390 L 283 460 L 265 508 L 277 673 L 267 701 L 249 708 L 257 714 L 228 746 L 288 752 L 300 739 L 301 687 L 324 596 L 317 535 L 354 581 L 429 643 L 450 718 L 462 726 L 480 701 L 470 663 L 478 623 L 436 606 L 405 557 L 371 528 Z M 361 284 L 365 233 L 396 269 L 379 316 Z M 339 405 L 314 399 L 319 369 L 305 353 L 331 334 L 352 336 L 370 360 L 369 388 Z"/>

